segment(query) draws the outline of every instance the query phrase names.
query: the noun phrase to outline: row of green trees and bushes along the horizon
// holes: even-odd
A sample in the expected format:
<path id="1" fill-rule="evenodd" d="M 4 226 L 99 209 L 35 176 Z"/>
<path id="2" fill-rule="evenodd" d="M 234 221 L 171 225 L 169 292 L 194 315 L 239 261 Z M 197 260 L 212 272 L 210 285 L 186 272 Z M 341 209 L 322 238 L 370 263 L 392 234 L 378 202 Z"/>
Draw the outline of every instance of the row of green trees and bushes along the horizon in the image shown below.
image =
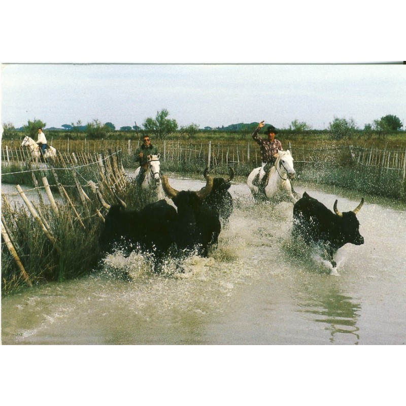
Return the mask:
<path id="1" fill-rule="evenodd" d="M 241 132 L 241 133 L 251 133 L 258 126 L 258 122 L 252 123 L 237 123 L 230 124 L 228 126 L 222 127 L 205 127 L 203 129 L 199 128 L 198 124 L 190 124 L 188 126 L 179 126 L 175 119 L 168 118 L 170 113 L 163 109 L 157 111 L 155 118 L 148 117 L 142 126 L 138 126 L 134 122 L 133 126 L 123 126 L 120 127 L 119 131 L 133 133 L 148 133 L 154 138 L 164 140 L 169 136 L 169 134 L 179 133 L 184 136 L 184 138 L 192 138 L 197 132 L 201 131 L 224 131 L 224 132 Z M 78 138 L 83 134 L 89 139 L 105 139 L 118 131 L 115 125 L 111 122 L 101 123 L 99 120 L 95 119 L 83 125 L 81 120 L 76 123 L 62 124 L 61 126 L 67 133 L 76 135 Z M 393 131 L 401 130 L 403 123 L 395 115 L 386 115 L 380 119 L 374 120 L 373 123 L 365 124 L 362 133 L 366 137 L 371 137 L 373 133 L 378 133 L 378 137 L 383 137 L 385 134 Z M 12 123 L 3 124 L 3 137 L 13 138 L 18 137 L 17 131 L 23 131 L 24 134 L 29 135 L 32 138 L 36 138 L 38 128 L 46 128 L 46 123 L 41 120 L 28 120 L 28 123 L 20 128 L 14 128 Z M 47 128 L 48 130 L 61 130 L 61 128 Z M 284 129 L 282 129 L 284 130 Z M 286 129 L 291 133 L 300 134 L 309 130 L 312 127 L 306 122 L 299 121 L 297 119 L 293 120 L 289 127 Z M 327 132 L 329 138 L 332 140 L 340 140 L 343 138 L 351 138 L 354 134 L 359 133 L 360 129 L 357 127 L 355 121 L 350 118 L 339 118 L 334 117 L 334 119 L 329 123 L 327 129 L 323 132 Z"/>

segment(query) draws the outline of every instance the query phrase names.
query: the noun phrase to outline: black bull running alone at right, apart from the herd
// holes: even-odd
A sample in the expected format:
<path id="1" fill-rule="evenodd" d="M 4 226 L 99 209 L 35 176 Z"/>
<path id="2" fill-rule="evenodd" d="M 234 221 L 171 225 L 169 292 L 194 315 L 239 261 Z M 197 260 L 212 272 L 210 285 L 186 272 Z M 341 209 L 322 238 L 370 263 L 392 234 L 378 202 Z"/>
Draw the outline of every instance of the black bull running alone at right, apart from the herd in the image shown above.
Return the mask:
<path id="1" fill-rule="evenodd" d="M 362 197 L 360 204 L 353 211 L 341 213 L 335 200 L 332 213 L 320 201 L 304 192 L 293 206 L 293 235 L 301 235 L 308 245 L 321 245 L 327 253 L 327 259 L 335 267 L 333 256 L 339 248 L 347 243 L 364 243 L 356 217 L 363 203 Z"/>

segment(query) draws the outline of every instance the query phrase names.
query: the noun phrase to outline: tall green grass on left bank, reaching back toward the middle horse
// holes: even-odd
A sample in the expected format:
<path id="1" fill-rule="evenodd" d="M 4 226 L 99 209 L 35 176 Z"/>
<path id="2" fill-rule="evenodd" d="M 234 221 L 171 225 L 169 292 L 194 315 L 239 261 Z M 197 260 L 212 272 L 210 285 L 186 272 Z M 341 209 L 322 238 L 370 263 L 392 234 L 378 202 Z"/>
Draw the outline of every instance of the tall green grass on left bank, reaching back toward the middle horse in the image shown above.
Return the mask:
<path id="1" fill-rule="evenodd" d="M 91 199 L 85 205 L 81 204 L 78 197 L 75 198 L 73 190 L 70 190 L 69 195 L 83 225 L 70 205 L 57 203 L 59 213 L 56 214 L 49 205 L 32 202 L 48 224 L 55 244 L 47 238 L 42 227 L 24 206 L 17 202 L 11 206 L 3 201 L 2 216 L 32 284 L 80 278 L 97 267 L 101 259 L 98 236 L 104 222 L 96 212 L 99 210 L 106 215 L 106 209 L 100 207 L 89 187 L 83 184 L 82 187 Z M 138 188 L 134 179 L 125 178 L 125 185 L 117 189 L 127 210 L 140 210 L 152 201 L 151 195 L 140 193 Z M 109 188 L 105 188 L 104 197 L 110 205 L 117 203 Z M 6 245 L 2 244 L 2 296 L 22 286 L 25 286 L 24 278 L 20 276 L 19 268 Z"/>

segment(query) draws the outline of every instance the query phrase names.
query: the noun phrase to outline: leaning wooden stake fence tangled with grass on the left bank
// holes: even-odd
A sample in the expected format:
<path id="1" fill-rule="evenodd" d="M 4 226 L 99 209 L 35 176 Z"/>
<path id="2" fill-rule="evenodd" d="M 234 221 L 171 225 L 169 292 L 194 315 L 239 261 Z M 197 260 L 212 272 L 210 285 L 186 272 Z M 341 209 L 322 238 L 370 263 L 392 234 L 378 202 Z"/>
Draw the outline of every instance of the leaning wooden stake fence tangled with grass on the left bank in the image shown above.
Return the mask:
<path id="1" fill-rule="evenodd" d="M 75 268 L 94 264 L 97 254 L 91 240 L 97 238 L 89 237 L 97 233 L 95 230 L 105 219 L 100 201 L 114 204 L 118 196 L 128 195 L 129 184 L 133 182 L 124 171 L 120 151 L 72 153 L 67 158 L 67 154 L 60 154 L 58 166 L 55 162 L 32 166 L 28 171 L 32 177 L 31 189 L 24 191 L 17 184 L 16 192 L 2 190 L 2 294 L 18 285 L 32 286 L 33 280 L 41 278 L 63 280 L 63 272 L 77 276 Z M 2 174 L 2 178 L 3 175 L 8 174 Z M 71 181 L 62 184 L 61 178 Z M 32 194 L 28 192 L 35 192 L 33 199 L 27 197 Z M 79 241 L 69 247 L 63 237 L 66 235 Z M 84 246 L 86 240 L 88 246 Z M 77 252 L 75 263 L 72 252 L 80 249 L 83 252 Z M 32 260 L 34 256 L 38 256 L 37 261 Z M 38 269 L 32 269 L 33 263 L 43 269 L 41 278 Z M 47 269 L 48 274 L 44 276 Z"/>

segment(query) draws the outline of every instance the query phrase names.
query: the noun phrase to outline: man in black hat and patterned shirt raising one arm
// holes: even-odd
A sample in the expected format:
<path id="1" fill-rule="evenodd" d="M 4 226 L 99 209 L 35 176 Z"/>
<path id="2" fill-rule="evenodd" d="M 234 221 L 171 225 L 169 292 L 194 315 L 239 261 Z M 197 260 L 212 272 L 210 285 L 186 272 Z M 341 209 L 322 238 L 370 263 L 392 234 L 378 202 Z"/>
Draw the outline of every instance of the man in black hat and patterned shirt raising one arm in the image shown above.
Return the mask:
<path id="1" fill-rule="evenodd" d="M 277 129 L 273 125 L 269 125 L 265 131 L 267 139 L 259 138 L 259 130 L 265 126 L 264 120 L 262 120 L 255 131 L 252 133 L 253 140 L 260 145 L 261 150 L 261 169 L 259 170 L 258 184 L 261 188 L 265 187 L 266 173 L 269 172 L 270 168 L 274 166 L 276 158 L 278 157 L 278 151 L 283 151 L 282 144 L 279 140 L 275 139 L 275 134 L 278 133 Z"/>

